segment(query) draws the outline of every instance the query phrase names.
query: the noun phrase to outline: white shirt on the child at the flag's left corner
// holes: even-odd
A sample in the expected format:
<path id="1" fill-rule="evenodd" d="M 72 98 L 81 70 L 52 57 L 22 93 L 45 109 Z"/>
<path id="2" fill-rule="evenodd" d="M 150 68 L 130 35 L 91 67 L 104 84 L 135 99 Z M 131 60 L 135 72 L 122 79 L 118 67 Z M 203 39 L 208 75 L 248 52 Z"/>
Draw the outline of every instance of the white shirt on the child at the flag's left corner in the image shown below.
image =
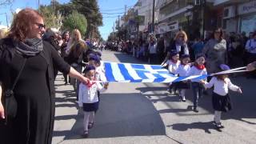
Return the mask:
<path id="1" fill-rule="evenodd" d="M 82 103 L 94 103 L 98 102 L 98 93 L 97 91 L 103 92 L 106 89 L 102 87 L 99 82 L 96 82 L 90 88 L 82 83 L 79 85 L 79 94 L 78 94 L 78 104 L 82 106 Z"/>

